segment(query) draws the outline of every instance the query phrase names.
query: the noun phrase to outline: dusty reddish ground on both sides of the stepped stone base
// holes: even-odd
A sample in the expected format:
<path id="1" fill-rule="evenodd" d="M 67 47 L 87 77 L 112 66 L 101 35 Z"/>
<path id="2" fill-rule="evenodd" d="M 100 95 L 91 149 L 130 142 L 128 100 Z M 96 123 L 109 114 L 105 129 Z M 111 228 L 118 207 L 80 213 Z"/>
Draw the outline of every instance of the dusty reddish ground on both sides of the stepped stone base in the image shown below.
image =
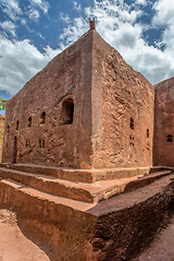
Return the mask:
<path id="1" fill-rule="evenodd" d="M 0 210 L 0 261 L 50 261 L 17 226 L 15 213 Z M 174 216 L 151 246 L 134 261 L 174 261 Z M 59 261 L 59 260 L 58 260 Z"/>

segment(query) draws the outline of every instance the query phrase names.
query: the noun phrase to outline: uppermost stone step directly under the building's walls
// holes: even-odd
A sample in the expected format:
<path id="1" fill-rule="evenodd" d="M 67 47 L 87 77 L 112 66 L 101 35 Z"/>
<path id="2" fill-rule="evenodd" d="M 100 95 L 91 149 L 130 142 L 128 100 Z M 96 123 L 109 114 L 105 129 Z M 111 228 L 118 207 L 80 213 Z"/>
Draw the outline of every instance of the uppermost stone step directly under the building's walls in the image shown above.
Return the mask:
<path id="1" fill-rule="evenodd" d="M 61 179 L 67 179 L 72 182 L 79 183 L 96 183 L 100 181 L 108 179 L 120 179 L 128 178 L 139 175 L 146 175 L 150 172 L 158 172 L 163 170 L 169 170 L 167 167 L 113 167 L 113 169 L 90 169 L 90 170 L 80 170 L 80 169 L 70 169 L 70 167 L 53 167 L 53 166 L 42 166 L 35 164 L 23 164 L 23 163 L 0 163 L 0 166 L 27 172 L 41 175 L 50 175 Z"/>

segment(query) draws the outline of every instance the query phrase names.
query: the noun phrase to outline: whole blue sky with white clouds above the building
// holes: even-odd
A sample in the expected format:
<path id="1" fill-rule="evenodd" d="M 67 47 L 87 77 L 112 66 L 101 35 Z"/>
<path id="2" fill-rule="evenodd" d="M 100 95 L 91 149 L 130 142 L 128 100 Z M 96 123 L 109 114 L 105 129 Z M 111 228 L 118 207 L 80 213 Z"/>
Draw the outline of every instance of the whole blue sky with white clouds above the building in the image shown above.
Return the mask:
<path id="1" fill-rule="evenodd" d="M 14 96 L 89 17 L 151 84 L 174 76 L 174 0 L 0 0 L 0 96 Z"/>

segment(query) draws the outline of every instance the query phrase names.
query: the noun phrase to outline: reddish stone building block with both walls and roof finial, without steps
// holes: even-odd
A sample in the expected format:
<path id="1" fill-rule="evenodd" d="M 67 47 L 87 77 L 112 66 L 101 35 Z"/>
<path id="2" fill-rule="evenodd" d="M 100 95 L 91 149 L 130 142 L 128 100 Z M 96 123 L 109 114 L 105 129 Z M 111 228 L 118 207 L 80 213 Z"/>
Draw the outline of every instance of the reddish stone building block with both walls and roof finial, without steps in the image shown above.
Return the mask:
<path id="1" fill-rule="evenodd" d="M 152 166 L 153 114 L 153 86 L 91 22 L 8 102 L 2 162 Z"/>

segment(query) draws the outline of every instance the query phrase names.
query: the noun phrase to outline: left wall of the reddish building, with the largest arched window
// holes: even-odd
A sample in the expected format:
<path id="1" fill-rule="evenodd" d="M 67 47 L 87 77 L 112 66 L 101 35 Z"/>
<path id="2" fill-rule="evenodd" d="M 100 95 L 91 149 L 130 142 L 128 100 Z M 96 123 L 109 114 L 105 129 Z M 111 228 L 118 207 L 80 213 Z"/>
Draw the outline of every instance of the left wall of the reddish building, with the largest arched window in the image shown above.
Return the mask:
<path id="1" fill-rule="evenodd" d="M 3 162 L 13 161 L 16 137 L 17 162 L 90 167 L 91 60 L 89 32 L 55 57 L 8 102 Z M 62 103 L 69 98 L 74 101 L 73 124 L 61 125 Z M 40 124 L 42 112 L 46 112 L 45 124 Z"/>

